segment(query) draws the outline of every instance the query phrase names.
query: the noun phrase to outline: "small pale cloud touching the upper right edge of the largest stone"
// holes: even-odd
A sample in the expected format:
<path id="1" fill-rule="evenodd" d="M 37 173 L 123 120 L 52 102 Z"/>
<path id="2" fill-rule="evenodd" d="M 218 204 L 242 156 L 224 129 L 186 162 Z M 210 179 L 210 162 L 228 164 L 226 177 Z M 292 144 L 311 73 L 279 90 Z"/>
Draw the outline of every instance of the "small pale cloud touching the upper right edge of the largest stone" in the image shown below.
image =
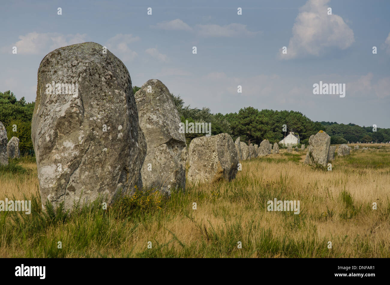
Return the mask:
<path id="1" fill-rule="evenodd" d="M 114 54 L 118 54 L 124 62 L 132 61 L 138 54 L 129 48 L 129 44 L 137 42 L 140 37 L 131 34 L 117 34 L 107 40 L 106 47 Z"/>

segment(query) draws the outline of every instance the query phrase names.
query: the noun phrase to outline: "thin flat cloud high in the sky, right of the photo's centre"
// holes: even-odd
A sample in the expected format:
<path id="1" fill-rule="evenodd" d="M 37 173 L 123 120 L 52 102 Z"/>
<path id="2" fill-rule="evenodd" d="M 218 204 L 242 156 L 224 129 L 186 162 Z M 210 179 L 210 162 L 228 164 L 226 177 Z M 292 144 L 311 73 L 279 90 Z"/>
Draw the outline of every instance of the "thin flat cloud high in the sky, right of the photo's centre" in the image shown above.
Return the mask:
<path id="1" fill-rule="evenodd" d="M 261 32 L 250 32 L 246 29 L 246 25 L 232 23 L 229 25 L 196 25 L 197 33 L 204 37 L 239 37 L 239 36 L 254 36 Z"/>

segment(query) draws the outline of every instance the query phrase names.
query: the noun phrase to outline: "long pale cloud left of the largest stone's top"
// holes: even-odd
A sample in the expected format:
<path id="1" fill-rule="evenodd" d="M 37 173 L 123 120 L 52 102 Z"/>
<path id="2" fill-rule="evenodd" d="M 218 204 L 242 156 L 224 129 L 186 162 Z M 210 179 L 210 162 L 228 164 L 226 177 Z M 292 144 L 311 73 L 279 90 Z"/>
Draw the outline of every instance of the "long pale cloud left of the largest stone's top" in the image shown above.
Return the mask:
<path id="1" fill-rule="evenodd" d="M 39 55 L 49 53 L 63 46 L 85 42 L 86 37 L 86 34 L 81 35 L 79 33 L 76 35 L 63 35 L 60 33 L 32 32 L 27 35 L 20 35 L 20 40 L 12 44 L 12 46 L 16 46 L 18 54 L 21 55 Z M 12 46 L 3 47 L 2 50 L 11 53 Z"/>

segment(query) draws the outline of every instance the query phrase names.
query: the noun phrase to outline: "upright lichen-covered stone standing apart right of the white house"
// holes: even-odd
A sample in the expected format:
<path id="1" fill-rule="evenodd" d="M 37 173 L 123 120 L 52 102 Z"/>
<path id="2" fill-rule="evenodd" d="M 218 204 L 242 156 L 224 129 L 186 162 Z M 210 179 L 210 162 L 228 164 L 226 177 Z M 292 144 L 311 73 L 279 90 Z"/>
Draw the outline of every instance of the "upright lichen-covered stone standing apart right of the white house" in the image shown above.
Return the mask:
<path id="1" fill-rule="evenodd" d="M 328 153 L 330 146 L 330 136 L 323 130 L 309 138 L 309 147 L 305 159 L 306 164 L 320 164 L 326 167 L 328 164 Z"/>

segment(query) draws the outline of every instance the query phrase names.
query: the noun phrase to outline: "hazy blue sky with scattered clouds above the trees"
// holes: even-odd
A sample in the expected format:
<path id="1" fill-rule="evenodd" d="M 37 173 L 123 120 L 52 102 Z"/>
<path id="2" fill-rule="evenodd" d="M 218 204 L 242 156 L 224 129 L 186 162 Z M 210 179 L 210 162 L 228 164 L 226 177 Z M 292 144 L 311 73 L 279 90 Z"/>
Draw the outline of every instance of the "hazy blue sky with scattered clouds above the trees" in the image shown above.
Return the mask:
<path id="1" fill-rule="evenodd" d="M 92 41 L 124 62 L 133 86 L 160 79 L 192 107 L 294 110 L 390 128 L 389 14 L 390 2 L 379 0 L 8 1 L 0 90 L 35 100 L 43 57 Z M 345 83 L 346 96 L 314 95 L 319 81 Z"/>

